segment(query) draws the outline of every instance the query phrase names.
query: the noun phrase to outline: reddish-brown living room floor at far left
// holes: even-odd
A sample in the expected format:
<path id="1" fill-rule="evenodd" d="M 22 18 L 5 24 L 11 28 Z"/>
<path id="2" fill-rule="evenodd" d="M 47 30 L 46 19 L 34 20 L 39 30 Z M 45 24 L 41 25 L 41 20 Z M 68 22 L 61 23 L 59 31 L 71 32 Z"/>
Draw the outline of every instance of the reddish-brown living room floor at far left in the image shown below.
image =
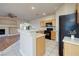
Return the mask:
<path id="1" fill-rule="evenodd" d="M 0 35 L 0 51 L 5 50 L 19 40 L 19 34 Z"/>

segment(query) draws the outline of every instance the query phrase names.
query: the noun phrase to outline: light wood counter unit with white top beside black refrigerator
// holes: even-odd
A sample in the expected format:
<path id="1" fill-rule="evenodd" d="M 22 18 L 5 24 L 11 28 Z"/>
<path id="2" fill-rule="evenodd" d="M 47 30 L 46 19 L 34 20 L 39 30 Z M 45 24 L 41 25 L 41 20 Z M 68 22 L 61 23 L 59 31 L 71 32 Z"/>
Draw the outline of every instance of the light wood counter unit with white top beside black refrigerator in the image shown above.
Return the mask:
<path id="1" fill-rule="evenodd" d="M 64 37 L 64 56 L 79 56 L 79 38 Z"/>

